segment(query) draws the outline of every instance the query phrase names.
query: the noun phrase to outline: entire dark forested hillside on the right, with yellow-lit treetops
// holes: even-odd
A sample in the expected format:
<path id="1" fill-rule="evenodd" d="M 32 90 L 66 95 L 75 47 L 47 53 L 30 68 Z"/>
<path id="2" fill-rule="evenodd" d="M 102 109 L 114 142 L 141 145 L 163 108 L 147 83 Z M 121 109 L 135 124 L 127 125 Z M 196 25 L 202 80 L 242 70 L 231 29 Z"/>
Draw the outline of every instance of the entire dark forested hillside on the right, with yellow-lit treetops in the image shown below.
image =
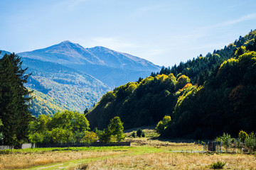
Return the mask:
<path id="1" fill-rule="evenodd" d="M 124 128 L 153 125 L 164 115 L 164 137 L 213 138 L 255 130 L 256 30 L 151 77 L 119 86 L 87 113 L 92 128 L 106 128 L 118 115 Z M 192 84 L 191 84 L 192 83 Z"/>

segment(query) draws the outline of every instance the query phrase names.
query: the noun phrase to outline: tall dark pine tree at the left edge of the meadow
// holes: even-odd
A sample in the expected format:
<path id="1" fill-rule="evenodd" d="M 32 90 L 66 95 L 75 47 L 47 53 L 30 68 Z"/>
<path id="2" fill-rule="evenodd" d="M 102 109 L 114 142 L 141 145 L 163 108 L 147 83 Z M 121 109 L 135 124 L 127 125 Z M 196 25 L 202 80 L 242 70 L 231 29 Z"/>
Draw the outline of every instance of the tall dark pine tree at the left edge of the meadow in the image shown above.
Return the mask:
<path id="1" fill-rule="evenodd" d="M 28 101 L 32 91 L 24 84 L 31 74 L 25 74 L 21 67 L 21 57 L 5 54 L 0 59 L 0 119 L 3 126 L 4 144 L 16 145 L 26 140 L 28 123 L 32 115 L 28 111 Z"/>

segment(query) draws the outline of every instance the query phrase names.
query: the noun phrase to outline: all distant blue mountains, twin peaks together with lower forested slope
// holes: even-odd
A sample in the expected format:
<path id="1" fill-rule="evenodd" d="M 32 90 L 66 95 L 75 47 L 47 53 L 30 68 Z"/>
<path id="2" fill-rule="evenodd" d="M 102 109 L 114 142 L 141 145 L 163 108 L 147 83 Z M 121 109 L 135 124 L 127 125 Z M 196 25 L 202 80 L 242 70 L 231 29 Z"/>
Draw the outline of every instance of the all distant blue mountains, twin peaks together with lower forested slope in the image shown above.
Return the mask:
<path id="1" fill-rule="evenodd" d="M 0 57 L 11 54 L 2 50 Z M 84 111 L 112 88 L 158 72 L 160 67 L 106 47 L 84 48 L 70 41 L 17 54 L 32 73 L 26 86 L 35 90 L 33 115 L 65 109 Z"/>

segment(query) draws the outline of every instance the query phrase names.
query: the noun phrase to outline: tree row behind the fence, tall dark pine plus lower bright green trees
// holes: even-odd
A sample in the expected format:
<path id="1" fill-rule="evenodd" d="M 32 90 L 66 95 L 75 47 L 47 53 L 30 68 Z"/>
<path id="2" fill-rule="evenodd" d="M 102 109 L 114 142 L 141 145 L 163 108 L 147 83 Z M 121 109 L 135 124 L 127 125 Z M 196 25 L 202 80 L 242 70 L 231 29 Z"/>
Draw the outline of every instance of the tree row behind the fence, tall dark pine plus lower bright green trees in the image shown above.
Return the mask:
<path id="1" fill-rule="evenodd" d="M 57 112 L 34 117 L 30 112 L 31 94 L 24 84 L 26 74 L 21 57 L 5 54 L 0 59 L 0 142 L 1 145 L 18 143 L 111 142 L 124 140 L 119 117 L 110 120 L 105 130 L 90 131 L 84 114 L 75 111 Z"/>

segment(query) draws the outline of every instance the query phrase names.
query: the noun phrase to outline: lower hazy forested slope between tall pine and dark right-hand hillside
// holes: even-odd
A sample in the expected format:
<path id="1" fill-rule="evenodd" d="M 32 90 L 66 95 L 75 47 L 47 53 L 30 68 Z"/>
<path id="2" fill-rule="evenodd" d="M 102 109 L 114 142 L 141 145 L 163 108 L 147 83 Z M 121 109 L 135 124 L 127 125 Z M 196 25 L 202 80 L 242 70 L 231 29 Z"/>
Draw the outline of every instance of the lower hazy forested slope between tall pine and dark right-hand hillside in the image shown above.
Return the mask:
<path id="1" fill-rule="evenodd" d="M 53 115 L 55 111 L 65 109 L 82 112 L 110 90 L 94 77 L 61 64 L 26 57 L 22 61 L 23 67 L 28 67 L 26 73 L 32 73 L 26 86 L 36 90 L 31 107 L 33 115 Z M 40 103 L 41 107 L 38 107 Z"/>

